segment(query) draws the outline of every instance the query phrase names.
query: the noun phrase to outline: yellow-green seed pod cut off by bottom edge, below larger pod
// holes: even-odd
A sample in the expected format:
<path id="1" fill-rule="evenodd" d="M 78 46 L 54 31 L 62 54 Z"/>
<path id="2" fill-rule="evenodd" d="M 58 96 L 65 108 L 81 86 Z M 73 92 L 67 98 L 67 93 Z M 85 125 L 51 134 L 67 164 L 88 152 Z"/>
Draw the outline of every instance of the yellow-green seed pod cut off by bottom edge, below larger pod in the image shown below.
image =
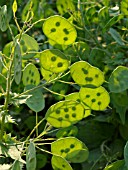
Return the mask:
<path id="1" fill-rule="evenodd" d="M 61 156 L 54 155 L 51 163 L 54 170 L 73 170 L 70 164 Z"/>

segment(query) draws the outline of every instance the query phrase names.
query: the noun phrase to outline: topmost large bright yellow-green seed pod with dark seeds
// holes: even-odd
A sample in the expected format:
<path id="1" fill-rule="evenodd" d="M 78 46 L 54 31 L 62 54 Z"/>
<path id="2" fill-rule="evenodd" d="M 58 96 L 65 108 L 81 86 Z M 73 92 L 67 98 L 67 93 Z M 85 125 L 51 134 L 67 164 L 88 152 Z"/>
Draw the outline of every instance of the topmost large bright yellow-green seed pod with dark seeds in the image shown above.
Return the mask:
<path id="1" fill-rule="evenodd" d="M 63 45 L 74 43 L 77 37 L 73 25 L 58 15 L 51 16 L 44 22 L 43 32 L 49 39 Z"/>

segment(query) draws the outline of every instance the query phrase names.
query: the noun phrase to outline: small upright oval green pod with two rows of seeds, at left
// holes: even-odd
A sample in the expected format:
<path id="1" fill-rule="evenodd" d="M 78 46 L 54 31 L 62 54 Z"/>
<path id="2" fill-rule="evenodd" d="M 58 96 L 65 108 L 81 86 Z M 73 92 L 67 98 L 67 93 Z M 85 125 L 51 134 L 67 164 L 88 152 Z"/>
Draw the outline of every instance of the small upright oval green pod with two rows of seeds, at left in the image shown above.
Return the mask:
<path id="1" fill-rule="evenodd" d="M 36 66 L 32 63 L 26 65 L 23 71 L 23 84 L 38 85 L 40 83 L 40 74 Z"/>

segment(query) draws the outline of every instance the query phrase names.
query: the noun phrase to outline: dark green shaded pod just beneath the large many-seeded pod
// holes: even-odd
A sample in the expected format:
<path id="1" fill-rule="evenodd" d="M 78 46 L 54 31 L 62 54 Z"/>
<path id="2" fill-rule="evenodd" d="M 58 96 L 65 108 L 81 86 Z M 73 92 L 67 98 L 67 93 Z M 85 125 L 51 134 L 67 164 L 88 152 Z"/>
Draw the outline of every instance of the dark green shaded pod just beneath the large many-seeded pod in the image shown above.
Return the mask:
<path id="1" fill-rule="evenodd" d="M 78 133 L 77 126 L 69 126 L 69 127 L 60 129 L 56 133 L 56 137 L 57 138 L 69 137 L 69 136 L 74 136 L 75 137 L 77 135 L 77 133 Z"/>

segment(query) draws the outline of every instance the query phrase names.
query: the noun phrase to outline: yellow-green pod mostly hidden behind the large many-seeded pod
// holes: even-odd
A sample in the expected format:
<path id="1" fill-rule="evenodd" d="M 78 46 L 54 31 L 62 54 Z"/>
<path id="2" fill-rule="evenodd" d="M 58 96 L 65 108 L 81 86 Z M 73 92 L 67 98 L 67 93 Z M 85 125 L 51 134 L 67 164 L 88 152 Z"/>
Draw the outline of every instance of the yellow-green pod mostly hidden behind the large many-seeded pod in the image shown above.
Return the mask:
<path id="1" fill-rule="evenodd" d="M 65 97 L 65 100 L 72 100 L 72 101 L 77 101 L 77 102 L 81 103 L 80 95 L 78 92 L 70 93 L 69 95 L 67 95 Z M 83 105 L 83 106 L 85 109 L 85 111 L 84 111 L 84 118 L 85 118 L 85 117 L 91 115 L 91 109 L 86 105 Z"/>

